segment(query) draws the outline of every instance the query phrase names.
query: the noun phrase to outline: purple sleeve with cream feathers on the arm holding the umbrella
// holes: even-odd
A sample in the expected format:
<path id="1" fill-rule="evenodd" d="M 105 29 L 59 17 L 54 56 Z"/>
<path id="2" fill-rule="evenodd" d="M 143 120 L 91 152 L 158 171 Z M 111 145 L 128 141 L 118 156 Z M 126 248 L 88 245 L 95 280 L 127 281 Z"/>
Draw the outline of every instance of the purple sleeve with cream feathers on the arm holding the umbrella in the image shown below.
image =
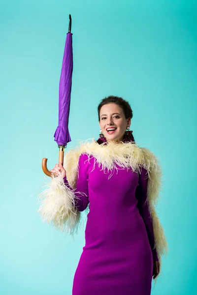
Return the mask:
<path id="1" fill-rule="evenodd" d="M 67 163 L 70 156 L 73 156 L 72 161 Z M 52 176 L 46 189 L 39 194 L 41 204 L 38 211 L 42 220 L 72 236 L 77 234 L 83 223 L 81 211 L 89 204 L 88 163 L 85 160 L 86 154 L 79 155 L 70 150 L 64 159 L 70 183 L 61 175 Z"/>

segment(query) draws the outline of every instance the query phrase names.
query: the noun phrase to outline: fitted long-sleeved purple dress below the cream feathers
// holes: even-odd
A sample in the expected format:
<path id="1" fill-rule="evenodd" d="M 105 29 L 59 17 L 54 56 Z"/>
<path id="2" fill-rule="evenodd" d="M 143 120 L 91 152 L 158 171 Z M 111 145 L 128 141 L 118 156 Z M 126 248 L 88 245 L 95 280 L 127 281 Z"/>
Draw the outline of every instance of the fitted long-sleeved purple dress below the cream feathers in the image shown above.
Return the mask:
<path id="1" fill-rule="evenodd" d="M 89 204 L 85 246 L 75 271 L 72 295 L 150 295 L 154 248 L 146 201 L 148 175 L 131 169 L 100 171 L 94 157 L 79 157 L 75 206 Z M 93 170 L 93 171 L 92 171 Z M 66 177 L 66 186 L 70 189 Z M 79 197 L 80 196 L 80 197 Z"/>

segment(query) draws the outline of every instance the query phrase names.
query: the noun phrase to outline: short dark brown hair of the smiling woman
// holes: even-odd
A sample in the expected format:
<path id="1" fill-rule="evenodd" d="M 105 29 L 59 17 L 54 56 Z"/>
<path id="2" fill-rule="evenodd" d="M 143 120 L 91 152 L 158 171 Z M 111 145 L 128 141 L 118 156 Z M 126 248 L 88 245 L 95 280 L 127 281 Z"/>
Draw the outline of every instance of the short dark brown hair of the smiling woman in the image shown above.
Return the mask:
<path id="1" fill-rule="evenodd" d="M 101 100 L 101 102 L 99 103 L 99 106 L 98 106 L 99 121 L 100 121 L 100 109 L 103 105 L 108 104 L 108 103 L 116 103 L 118 106 L 120 106 L 122 108 L 126 119 L 132 118 L 132 109 L 131 109 L 129 102 L 127 100 L 123 99 L 122 97 L 109 95 L 109 96 L 106 96 L 105 98 L 103 98 Z"/>

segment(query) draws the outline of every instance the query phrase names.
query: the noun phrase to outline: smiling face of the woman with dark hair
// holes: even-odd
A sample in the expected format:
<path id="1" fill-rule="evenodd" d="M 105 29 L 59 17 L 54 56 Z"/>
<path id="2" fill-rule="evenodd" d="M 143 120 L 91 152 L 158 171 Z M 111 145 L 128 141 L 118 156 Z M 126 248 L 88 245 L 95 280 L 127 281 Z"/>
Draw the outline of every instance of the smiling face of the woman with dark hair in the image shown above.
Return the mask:
<path id="1" fill-rule="evenodd" d="M 107 141 L 122 141 L 127 126 L 130 124 L 131 118 L 126 119 L 123 109 L 116 103 L 108 103 L 101 107 L 99 125 Z M 109 127 L 114 127 L 116 130 L 108 132 Z"/>

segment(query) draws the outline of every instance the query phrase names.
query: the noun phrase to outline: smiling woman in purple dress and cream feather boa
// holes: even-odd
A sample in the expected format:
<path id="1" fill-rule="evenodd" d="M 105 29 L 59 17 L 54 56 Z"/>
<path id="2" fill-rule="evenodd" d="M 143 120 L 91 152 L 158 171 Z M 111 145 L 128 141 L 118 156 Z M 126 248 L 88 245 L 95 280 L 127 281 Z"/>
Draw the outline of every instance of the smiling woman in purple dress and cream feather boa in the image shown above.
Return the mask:
<path id="1" fill-rule="evenodd" d="M 167 249 L 154 207 L 161 168 L 151 151 L 134 143 L 132 131 L 125 132 L 132 118 L 127 101 L 108 96 L 98 115 L 99 140 L 68 151 L 64 167 L 55 165 L 40 211 L 73 234 L 89 206 L 72 295 L 150 295 Z"/>

